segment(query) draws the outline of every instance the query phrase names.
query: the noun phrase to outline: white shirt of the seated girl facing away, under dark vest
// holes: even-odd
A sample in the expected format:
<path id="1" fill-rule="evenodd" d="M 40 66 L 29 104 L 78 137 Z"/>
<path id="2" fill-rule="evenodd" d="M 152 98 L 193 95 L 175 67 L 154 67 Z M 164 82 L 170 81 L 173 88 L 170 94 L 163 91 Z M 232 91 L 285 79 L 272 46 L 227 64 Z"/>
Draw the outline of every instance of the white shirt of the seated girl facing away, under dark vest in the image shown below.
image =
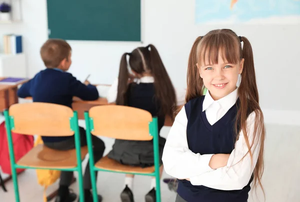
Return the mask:
<path id="1" fill-rule="evenodd" d="M 139 79 L 134 79 L 133 80 L 135 83 L 139 84 L 139 83 L 153 83 L 154 82 L 154 77 L 152 76 L 144 76 L 141 77 Z M 118 79 L 116 78 L 113 82 L 113 84 L 111 85 L 111 87 L 108 90 L 108 94 L 106 96 L 107 102 L 108 103 L 113 103 L 116 100 L 116 95 L 117 95 L 117 83 L 118 83 Z M 185 102 L 185 92 L 186 90 L 178 90 L 175 89 L 175 93 L 176 93 L 176 99 L 177 99 L 177 105 L 183 105 Z"/>

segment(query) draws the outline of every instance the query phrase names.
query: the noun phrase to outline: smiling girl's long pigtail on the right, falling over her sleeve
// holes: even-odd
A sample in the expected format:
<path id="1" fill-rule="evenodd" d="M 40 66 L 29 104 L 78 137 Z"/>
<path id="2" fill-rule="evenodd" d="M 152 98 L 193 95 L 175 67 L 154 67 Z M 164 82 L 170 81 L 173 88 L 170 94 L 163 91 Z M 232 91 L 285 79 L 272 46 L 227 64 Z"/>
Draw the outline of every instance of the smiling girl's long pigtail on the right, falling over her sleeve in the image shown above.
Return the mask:
<path id="1" fill-rule="evenodd" d="M 239 37 L 239 40 L 243 42 L 242 55 L 244 59 L 243 70 L 241 73 L 241 81 L 238 87 L 239 108 L 236 115 L 235 130 L 236 134 L 239 131 L 243 132 L 243 136 L 248 147 L 250 158 L 252 159 L 251 149 L 252 147 L 258 147 L 260 144 L 258 160 L 253 172 L 253 185 L 257 187 L 259 185 L 263 191 L 261 184 L 261 177 L 263 173 L 263 150 L 265 139 L 265 128 L 263 122 L 263 114 L 259 107 L 258 90 L 256 85 L 253 52 L 250 42 L 246 37 Z M 246 120 L 250 112 L 255 112 L 253 143 L 250 145 L 247 137 Z M 237 131 L 239 125 L 239 131 Z M 257 137 L 258 136 L 258 137 Z M 236 137 L 237 140 L 238 137 Z M 253 165 L 251 165 L 253 166 Z M 263 191 L 264 194 L 264 191 Z"/>

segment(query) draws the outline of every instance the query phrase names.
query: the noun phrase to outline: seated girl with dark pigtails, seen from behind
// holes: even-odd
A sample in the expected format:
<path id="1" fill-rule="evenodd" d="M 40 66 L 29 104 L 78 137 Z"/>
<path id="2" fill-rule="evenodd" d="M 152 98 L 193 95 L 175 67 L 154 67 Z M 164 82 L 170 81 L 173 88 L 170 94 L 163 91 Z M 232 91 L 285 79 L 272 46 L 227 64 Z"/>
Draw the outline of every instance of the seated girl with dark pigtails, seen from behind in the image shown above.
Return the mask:
<path id="1" fill-rule="evenodd" d="M 165 115 L 173 118 L 177 104 L 175 90 L 153 45 L 138 47 L 122 55 L 118 79 L 109 89 L 107 100 L 117 105 L 143 109 L 157 116 L 158 131 L 164 124 Z M 158 142 L 162 164 L 165 139 L 159 137 Z M 150 167 L 154 165 L 153 144 L 152 141 L 115 140 L 108 157 L 125 165 Z M 133 175 L 126 175 L 120 196 L 122 202 L 133 202 L 132 181 Z M 156 201 L 155 185 L 155 178 L 152 178 L 150 191 L 145 196 L 146 202 Z"/>

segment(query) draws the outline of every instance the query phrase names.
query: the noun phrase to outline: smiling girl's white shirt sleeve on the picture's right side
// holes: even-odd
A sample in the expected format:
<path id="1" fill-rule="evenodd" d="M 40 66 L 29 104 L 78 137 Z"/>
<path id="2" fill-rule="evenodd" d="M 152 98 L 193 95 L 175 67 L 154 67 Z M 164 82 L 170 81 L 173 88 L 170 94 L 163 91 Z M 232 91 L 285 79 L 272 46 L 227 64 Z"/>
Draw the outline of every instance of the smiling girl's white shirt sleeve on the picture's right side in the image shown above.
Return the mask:
<path id="1" fill-rule="evenodd" d="M 246 127 L 250 146 L 253 143 L 255 116 L 255 112 L 252 112 L 247 118 Z M 243 137 L 243 132 L 241 131 L 235 147 L 229 156 L 227 165 L 211 172 L 191 177 L 189 178 L 190 183 L 217 190 L 241 190 L 249 183 L 255 168 L 260 148 L 259 136 L 259 134 L 256 135 L 255 142 L 251 148 L 253 156 L 252 165 L 250 154 L 246 154 L 248 148 Z"/>

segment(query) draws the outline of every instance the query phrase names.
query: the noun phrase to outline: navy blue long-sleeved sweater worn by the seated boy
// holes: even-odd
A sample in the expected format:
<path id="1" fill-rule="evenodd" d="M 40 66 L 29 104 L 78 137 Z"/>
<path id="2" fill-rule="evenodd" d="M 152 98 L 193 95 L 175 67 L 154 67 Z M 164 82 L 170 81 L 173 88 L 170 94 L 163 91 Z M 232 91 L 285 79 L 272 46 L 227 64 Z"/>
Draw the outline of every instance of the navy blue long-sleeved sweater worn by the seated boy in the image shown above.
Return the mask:
<path id="1" fill-rule="evenodd" d="M 46 102 L 72 107 L 73 96 L 82 100 L 96 100 L 99 97 L 95 86 L 84 85 L 72 74 L 60 69 L 44 69 L 27 83 L 24 83 L 17 95 L 20 98 L 32 97 L 33 102 Z M 68 137 L 42 137 L 44 142 L 59 142 Z"/>

